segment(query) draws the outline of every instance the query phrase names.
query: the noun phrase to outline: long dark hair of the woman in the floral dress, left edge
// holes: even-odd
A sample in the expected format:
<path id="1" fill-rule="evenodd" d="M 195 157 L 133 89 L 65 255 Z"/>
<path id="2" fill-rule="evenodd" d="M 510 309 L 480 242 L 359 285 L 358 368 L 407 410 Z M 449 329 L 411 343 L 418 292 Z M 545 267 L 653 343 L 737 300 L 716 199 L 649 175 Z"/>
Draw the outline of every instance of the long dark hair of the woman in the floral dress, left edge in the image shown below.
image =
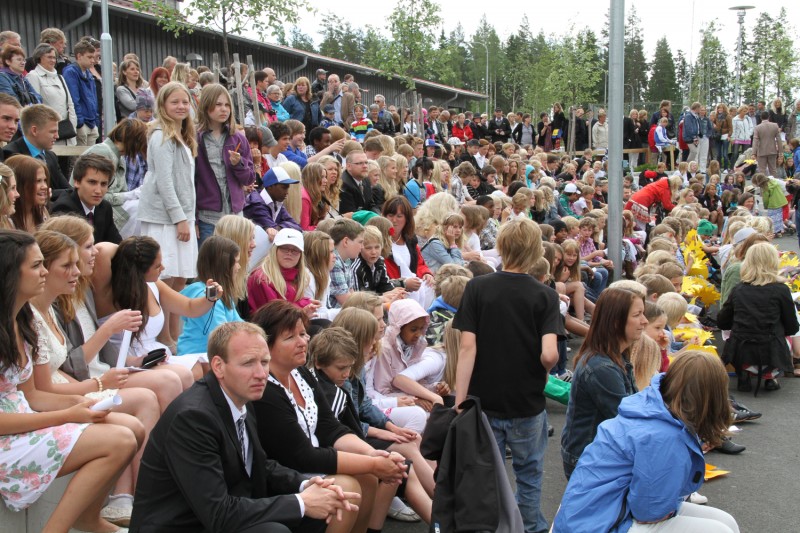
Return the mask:
<path id="1" fill-rule="evenodd" d="M 39 339 L 33 326 L 33 312 L 29 303 L 14 316 L 14 303 L 19 288 L 20 269 L 25 264 L 28 250 L 36 246 L 33 235 L 20 230 L 0 230 L 0 373 L 11 367 L 19 367 L 22 354 L 17 349 L 14 324 L 22 340 L 30 347 L 31 359 L 39 356 Z"/>

